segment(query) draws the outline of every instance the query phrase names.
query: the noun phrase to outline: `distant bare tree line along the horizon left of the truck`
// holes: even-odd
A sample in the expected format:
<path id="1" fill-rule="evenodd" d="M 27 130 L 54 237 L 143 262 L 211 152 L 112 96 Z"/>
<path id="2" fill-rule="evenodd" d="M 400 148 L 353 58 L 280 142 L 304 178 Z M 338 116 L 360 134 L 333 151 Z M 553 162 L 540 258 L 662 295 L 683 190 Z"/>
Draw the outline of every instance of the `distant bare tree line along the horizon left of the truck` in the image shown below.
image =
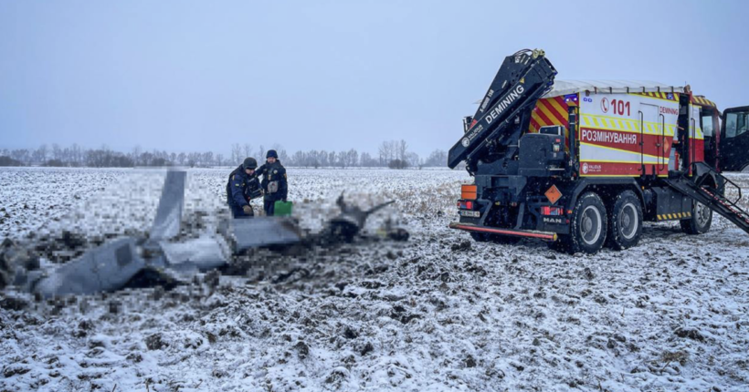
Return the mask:
<path id="1" fill-rule="evenodd" d="M 448 154 L 444 150 L 433 151 L 426 159 L 409 150 L 406 140 L 383 141 L 377 152 L 358 150 L 299 150 L 288 153 L 276 144 L 269 149 L 276 150 L 279 160 L 290 167 L 303 168 L 351 168 L 383 167 L 390 169 L 444 167 Z M 111 150 L 107 146 L 99 149 L 85 149 L 78 144 L 60 147 L 58 144 L 43 144 L 37 149 L 0 150 L 0 166 L 51 166 L 51 167 L 92 167 L 92 168 L 132 168 L 132 167 L 221 167 L 236 166 L 247 157 L 253 157 L 262 164 L 267 149 L 263 145 L 232 144 L 230 154 L 207 152 L 167 152 L 165 150 L 146 151 L 136 146 L 130 152 Z"/>

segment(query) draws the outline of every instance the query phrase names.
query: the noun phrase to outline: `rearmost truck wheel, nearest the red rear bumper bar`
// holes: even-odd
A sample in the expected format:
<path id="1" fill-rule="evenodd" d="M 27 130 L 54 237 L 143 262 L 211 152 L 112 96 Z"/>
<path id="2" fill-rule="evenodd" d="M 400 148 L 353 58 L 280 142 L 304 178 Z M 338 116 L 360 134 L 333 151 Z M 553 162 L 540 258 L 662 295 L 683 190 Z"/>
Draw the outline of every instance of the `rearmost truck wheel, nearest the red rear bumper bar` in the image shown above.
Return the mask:
<path id="1" fill-rule="evenodd" d="M 561 239 L 566 242 L 569 253 L 596 253 L 606 242 L 606 206 L 594 192 L 585 192 L 575 203 L 569 235 Z"/>

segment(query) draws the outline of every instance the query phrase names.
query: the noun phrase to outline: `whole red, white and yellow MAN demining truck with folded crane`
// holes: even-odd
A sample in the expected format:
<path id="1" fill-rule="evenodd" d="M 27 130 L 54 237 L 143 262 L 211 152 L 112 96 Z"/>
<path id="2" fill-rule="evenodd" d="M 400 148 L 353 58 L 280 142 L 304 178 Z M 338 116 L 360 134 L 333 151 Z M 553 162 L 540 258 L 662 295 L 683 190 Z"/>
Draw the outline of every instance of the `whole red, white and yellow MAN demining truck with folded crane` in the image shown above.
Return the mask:
<path id="1" fill-rule="evenodd" d="M 721 174 L 749 165 L 749 107 L 722 114 L 689 86 L 555 76 L 543 51 L 505 58 L 449 151 L 474 178 L 450 227 L 572 253 L 634 246 L 646 221 L 707 232 L 713 211 L 749 232 L 741 188 Z"/>

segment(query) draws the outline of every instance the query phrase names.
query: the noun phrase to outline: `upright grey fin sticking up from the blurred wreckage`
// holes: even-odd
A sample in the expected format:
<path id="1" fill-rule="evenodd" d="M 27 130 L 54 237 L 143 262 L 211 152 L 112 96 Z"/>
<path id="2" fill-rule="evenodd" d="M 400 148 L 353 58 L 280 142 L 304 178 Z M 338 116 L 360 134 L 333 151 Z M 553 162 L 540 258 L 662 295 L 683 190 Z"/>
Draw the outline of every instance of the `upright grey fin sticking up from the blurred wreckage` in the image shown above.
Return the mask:
<path id="1" fill-rule="evenodd" d="M 179 233 L 183 204 L 185 204 L 186 177 L 185 170 L 166 172 L 164 189 L 151 227 L 150 243 L 169 240 Z"/>

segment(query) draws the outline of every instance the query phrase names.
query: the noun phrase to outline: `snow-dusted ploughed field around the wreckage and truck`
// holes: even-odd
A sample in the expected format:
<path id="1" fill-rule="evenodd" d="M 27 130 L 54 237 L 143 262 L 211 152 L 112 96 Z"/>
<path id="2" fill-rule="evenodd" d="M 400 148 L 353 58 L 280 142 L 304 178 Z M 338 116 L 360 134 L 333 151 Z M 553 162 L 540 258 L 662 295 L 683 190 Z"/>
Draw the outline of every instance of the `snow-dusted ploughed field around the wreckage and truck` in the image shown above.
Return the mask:
<path id="1" fill-rule="evenodd" d="M 226 218 L 228 170 L 189 170 L 185 232 Z M 0 294 L 0 391 L 745 391 L 749 235 L 649 224 L 594 256 L 450 231 L 464 171 L 290 169 L 314 231 L 345 191 L 396 200 L 353 244 L 254 253 L 262 278 L 35 301 Z M 749 192 L 749 174 L 731 175 Z M 68 260 L 153 221 L 163 170 L 0 170 L 0 240 Z M 744 207 L 747 207 L 744 196 Z M 259 206 L 256 206 L 259 207 Z M 408 242 L 377 236 L 387 222 Z M 45 244 L 38 246 L 37 244 Z"/>

